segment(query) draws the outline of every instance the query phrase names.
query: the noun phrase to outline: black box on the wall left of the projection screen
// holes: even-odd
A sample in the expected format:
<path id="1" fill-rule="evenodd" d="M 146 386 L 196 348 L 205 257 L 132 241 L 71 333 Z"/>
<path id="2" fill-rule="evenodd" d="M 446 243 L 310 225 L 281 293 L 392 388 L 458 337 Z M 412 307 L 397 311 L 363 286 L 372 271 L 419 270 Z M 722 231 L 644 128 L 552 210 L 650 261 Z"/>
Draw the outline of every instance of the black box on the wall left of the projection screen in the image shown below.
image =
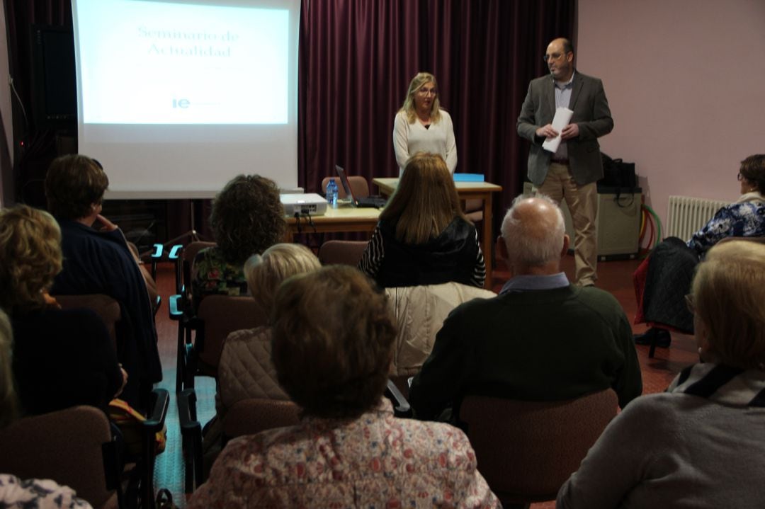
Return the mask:
<path id="1" fill-rule="evenodd" d="M 31 25 L 32 115 L 37 130 L 74 136 L 77 128 L 77 76 L 70 27 Z"/>

